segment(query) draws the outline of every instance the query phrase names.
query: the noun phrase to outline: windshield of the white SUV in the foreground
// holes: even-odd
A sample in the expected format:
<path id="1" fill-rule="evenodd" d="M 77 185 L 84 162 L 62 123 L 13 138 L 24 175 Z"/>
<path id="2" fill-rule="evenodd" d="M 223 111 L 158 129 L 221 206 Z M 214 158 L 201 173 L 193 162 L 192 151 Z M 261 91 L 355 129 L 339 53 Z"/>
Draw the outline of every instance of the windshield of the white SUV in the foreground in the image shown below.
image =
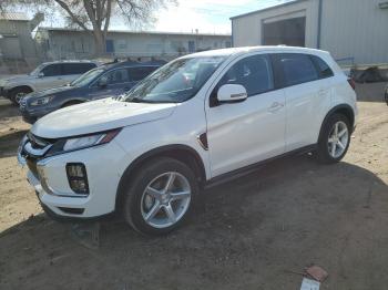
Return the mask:
<path id="1" fill-rule="evenodd" d="M 193 97 L 225 56 L 180 59 L 144 79 L 123 96 L 126 102 L 182 103 Z"/>

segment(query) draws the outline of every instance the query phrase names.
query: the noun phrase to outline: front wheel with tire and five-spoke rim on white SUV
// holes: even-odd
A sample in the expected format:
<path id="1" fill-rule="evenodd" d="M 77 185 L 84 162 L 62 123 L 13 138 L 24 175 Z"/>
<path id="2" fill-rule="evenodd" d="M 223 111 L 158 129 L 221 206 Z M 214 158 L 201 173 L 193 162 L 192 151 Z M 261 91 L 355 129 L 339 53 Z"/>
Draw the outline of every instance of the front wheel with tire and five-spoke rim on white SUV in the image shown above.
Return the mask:
<path id="1" fill-rule="evenodd" d="M 124 220 L 149 236 L 165 235 L 180 227 L 190 216 L 200 190 L 193 170 L 180 160 L 160 157 L 136 172 L 133 178 L 124 179 L 119 205 Z M 171 186 L 169 180 L 173 180 Z"/>

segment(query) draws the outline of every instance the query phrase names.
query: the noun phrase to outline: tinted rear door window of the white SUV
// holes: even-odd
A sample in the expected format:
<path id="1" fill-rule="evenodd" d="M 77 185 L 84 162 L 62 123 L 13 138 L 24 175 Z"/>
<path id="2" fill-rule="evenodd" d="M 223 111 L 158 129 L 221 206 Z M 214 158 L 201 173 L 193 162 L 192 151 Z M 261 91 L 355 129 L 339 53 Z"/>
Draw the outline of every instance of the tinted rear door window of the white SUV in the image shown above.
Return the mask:
<path id="1" fill-rule="evenodd" d="M 286 86 L 310 82 L 318 79 L 317 70 L 308 55 L 280 54 L 278 58 Z"/>

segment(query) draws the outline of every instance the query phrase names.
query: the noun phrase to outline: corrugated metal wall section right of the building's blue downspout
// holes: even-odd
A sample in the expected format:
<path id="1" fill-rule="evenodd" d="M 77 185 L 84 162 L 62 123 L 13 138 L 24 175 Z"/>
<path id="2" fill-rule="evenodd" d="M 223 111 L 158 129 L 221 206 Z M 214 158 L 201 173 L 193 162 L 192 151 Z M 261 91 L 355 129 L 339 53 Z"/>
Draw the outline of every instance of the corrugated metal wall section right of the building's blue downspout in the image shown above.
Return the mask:
<path id="1" fill-rule="evenodd" d="M 388 63 L 388 9 L 381 0 L 324 0 L 321 49 L 355 63 Z"/>

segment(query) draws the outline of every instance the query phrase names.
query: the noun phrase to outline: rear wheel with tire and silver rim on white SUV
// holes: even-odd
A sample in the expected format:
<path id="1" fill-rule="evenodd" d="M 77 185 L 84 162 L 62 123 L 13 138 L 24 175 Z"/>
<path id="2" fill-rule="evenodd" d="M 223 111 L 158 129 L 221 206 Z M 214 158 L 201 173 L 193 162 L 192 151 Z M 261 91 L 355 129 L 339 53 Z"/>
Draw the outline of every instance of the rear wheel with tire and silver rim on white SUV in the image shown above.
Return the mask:
<path id="1" fill-rule="evenodd" d="M 350 122 L 345 115 L 333 114 L 329 116 L 319 134 L 316 152 L 318 162 L 334 164 L 344 158 L 349 148 L 350 135 Z"/>

